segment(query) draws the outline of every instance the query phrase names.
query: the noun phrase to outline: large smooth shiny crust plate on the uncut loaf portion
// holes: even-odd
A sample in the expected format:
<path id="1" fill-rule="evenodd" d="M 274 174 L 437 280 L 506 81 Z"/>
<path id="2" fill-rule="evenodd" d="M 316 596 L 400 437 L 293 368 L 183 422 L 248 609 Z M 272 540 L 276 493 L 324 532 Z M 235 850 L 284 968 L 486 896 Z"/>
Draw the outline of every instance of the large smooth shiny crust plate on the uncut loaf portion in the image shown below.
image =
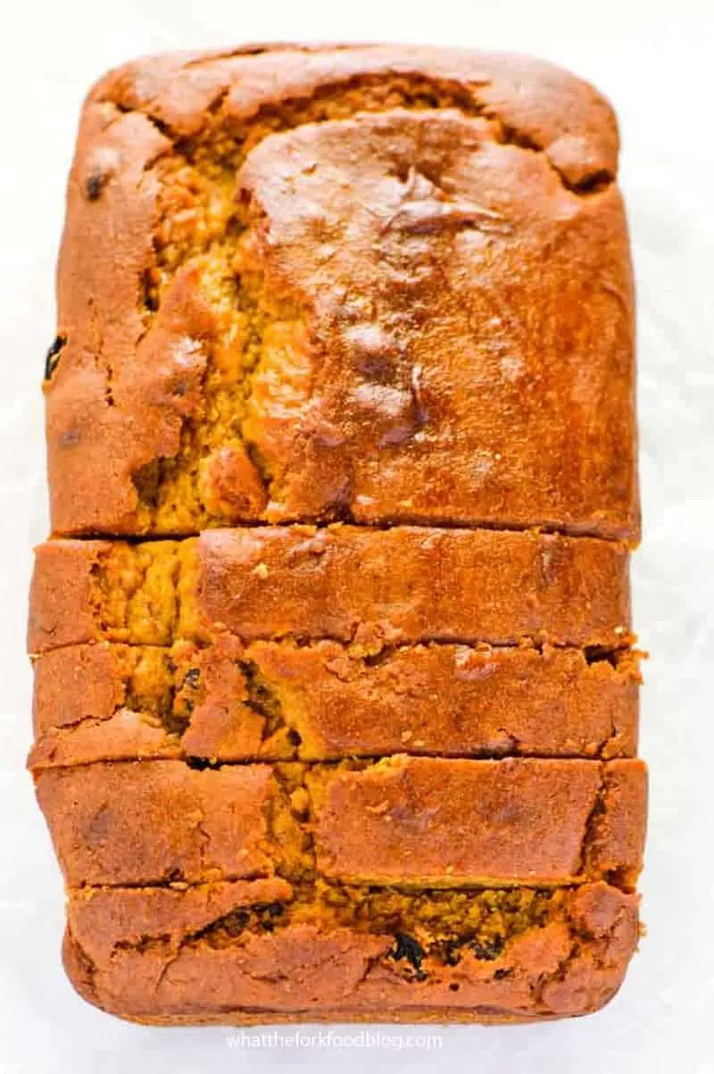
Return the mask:
<path id="1" fill-rule="evenodd" d="M 631 438 L 614 188 L 581 205 L 543 157 L 475 120 L 400 112 L 268 139 L 239 183 L 246 262 L 325 340 L 287 401 L 269 355 L 252 375 L 244 436 L 269 476 L 271 518 L 632 536 L 633 519 L 616 521 L 633 495 L 627 464 L 610 442 L 603 458 L 606 429 Z M 545 275 L 521 275 L 544 259 Z M 527 328 L 509 324 L 513 306 L 533 310 Z"/>

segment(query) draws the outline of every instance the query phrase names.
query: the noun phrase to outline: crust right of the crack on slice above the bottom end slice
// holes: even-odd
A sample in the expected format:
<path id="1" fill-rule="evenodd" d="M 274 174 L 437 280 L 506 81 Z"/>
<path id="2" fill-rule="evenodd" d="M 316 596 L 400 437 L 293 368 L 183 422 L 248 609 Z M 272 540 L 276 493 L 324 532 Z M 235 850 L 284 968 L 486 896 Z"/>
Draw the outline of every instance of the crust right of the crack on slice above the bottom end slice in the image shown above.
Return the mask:
<path id="1" fill-rule="evenodd" d="M 306 782 L 317 865 L 326 876 L 556 884 L 620 871 L 632 885 L 641 868 L 645 772 L 639 760 L 397 756 L 326 778 L 311 769 Z"/>

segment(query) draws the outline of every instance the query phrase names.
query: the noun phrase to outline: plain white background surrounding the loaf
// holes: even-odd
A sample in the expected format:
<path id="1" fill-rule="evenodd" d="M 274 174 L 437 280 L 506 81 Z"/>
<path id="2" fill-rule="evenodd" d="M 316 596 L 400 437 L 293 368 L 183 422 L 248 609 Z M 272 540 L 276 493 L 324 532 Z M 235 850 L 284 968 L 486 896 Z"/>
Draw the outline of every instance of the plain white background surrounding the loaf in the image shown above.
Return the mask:
<path id="1" fill-rule="evenodd" d="M 14 0 L 1 25 L 0 1074 L 714 1070 L 712 0 Z M 620 115 L 639 292 L 645 539 L 633 581 L 652 652 L 641 737 L 652 770 L 650 934 L 620 996 L 588 1019 L 445 1028 L 441 1049 L 428 1054 L 248 1053 L 229 1048 L 222 1029 L 125 1025 L 83 1003 L 60 970 L 61 884 L 24 771 L 24 630 L 29 550 L 47 532 L 40 382 L 55 336 L 54 262 L 79 102 L 105 68 L 134 55 L 269 39 L 531 52 L 595 82 Z"/>

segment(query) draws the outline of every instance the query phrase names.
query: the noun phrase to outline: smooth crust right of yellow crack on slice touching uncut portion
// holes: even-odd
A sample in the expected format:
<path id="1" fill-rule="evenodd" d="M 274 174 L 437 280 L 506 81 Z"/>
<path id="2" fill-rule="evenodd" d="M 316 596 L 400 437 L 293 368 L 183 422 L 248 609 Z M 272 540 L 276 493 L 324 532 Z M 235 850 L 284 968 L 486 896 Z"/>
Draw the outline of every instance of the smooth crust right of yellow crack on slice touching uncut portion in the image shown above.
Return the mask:
<path id="1" fill-rule="evenodd" d="M 199 557 L 204 615 L 246 637 L 607 645 L 629 624 L 627 553 L 609 541 L 291 526 L 208 531 Z"/>

